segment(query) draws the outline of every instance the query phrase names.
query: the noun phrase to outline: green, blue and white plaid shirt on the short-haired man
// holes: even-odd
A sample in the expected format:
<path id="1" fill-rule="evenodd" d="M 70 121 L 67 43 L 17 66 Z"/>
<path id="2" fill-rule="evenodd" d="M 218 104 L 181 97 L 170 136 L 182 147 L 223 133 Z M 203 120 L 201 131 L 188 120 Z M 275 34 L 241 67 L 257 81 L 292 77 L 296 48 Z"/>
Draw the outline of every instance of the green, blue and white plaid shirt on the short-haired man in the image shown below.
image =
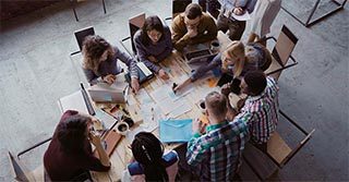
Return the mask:
<path id="1" fill-rule="evenodd" d="M 225 121 L 195 133 L 188 143 L 186 160 L 201 181 L 230 181 L 238 170 L 249 137 L 246 124 Z"/>

